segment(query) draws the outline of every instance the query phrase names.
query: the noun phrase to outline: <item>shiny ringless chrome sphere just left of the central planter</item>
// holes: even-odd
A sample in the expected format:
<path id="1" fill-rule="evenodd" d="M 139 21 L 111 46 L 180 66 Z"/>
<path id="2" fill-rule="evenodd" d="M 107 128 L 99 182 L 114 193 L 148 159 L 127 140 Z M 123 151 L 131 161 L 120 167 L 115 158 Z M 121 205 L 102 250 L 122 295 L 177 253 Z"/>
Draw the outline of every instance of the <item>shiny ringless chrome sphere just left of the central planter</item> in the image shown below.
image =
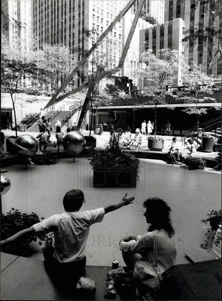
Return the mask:
<path id="1" fill-rule="evenodd" d="M 69 132 L 63 138 L 63 147 L 70 155 L 77 155 L 85 148 L 85 137 L 80 132 Z"/>

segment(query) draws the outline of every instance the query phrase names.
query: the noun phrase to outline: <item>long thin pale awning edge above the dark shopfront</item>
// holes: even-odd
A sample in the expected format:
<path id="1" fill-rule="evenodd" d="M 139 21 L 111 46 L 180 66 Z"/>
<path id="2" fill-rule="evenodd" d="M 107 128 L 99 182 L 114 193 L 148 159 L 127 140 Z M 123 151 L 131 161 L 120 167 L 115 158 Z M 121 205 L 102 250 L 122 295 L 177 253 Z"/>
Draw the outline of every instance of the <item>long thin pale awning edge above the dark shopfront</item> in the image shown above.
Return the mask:
<path id="1" fill-rule="evenodd" d="M 207 103 L 207 104 L 197 104 L 198 107 L 221 107 L 220 103 Z M 196 104 L 158 104 L 157 108 L 166 108 L 166 107 L 196 107 Z M 154 105 L 138 105 L 138 106 L 109 106 L 109 107 L 98 107 L 98 109 L 146 109 L 146 108 L 155 108 Z"/>

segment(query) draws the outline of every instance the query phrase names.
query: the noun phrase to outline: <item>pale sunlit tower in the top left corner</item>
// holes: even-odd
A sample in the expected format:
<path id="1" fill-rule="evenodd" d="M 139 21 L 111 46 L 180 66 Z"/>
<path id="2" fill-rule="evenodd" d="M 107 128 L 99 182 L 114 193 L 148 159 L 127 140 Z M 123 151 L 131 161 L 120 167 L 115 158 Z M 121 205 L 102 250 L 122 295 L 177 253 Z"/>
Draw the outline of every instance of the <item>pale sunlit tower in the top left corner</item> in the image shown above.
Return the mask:
<path id="1" fill-rule="evenodd" d="M 9 42 L 31 35 L 31 1 L 2 0 L 1 8 L 2 33 L 8 37 Z"/>

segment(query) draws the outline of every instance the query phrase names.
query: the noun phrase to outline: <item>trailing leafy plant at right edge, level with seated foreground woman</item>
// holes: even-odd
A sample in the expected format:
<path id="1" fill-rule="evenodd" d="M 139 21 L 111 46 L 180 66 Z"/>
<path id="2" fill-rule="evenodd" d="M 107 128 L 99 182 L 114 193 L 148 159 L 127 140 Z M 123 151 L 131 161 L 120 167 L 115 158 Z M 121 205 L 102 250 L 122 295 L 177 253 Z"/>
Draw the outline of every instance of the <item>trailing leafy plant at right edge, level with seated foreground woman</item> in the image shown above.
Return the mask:
<path id="1" fill-rule="evenodd" d="M 212 210 L 210 211 L 210 213 L 207 213 L 207 215 L 208 215 L 208 219 L 202 219 L 201 221 L 208 226 L 207 233 L 205 234 L 206 236 L 205 241 L 203 244 L 200 245 L 202 248 L 205 248 L 208 245 L 208 240 L 210 237 L 212 239 L 214 239 L 215 237 L 215 232 L 219 228 L 218 225 L 221 224 L 221 209 L 219 209 L 218 211 Z M 213 235 L 211 235 L 212 233 Z"/>

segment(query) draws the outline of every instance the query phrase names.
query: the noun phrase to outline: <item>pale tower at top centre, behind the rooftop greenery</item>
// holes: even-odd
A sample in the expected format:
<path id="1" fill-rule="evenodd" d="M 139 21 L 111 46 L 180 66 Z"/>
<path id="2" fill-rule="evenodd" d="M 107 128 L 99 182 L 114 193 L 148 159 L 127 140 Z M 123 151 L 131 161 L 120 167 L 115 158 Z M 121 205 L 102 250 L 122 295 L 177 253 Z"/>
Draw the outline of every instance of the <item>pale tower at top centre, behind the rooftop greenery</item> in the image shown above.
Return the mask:
<path id="1" fill-rule="evenodd" d="M 149 13 L 152 17 L 156 18 L 159 24 L 164 22 L 164 0 L 145 0 L 142 10 Z M 139 0 L 131 8 L 135 13 Z"/>

